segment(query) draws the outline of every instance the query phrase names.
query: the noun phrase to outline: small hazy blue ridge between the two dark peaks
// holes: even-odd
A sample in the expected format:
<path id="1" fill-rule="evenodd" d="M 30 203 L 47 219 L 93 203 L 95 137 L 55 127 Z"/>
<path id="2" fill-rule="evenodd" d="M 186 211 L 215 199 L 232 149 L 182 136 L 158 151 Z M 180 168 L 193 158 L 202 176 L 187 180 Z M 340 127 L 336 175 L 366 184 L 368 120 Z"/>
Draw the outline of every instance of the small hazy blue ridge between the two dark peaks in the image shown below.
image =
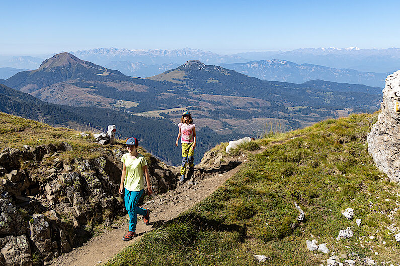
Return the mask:
<path id="1" fill-rule="evenodd" d="M 169 63 L 162 65 L 146 65 L 141 62 L 132 63 L 130 61 L 111 61 L 105 66 L 110 69 L 116 69 L 131 77 L 151 77 L 167 70 L 177 68 L 179 67 L 179 64 Z"/>

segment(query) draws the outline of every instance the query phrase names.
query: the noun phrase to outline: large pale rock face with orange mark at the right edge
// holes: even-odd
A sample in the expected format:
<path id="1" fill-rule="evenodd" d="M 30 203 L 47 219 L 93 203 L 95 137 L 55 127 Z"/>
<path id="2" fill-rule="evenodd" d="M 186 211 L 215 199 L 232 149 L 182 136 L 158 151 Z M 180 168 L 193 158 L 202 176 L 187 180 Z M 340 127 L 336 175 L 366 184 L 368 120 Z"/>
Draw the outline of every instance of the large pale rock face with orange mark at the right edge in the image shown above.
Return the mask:
<path id="1" fill-rule="evenodd" d="M 400 181 L 400 71 L 387 76 L 378 121 L 367 136 L 368 152 L 380 171 Z"/>

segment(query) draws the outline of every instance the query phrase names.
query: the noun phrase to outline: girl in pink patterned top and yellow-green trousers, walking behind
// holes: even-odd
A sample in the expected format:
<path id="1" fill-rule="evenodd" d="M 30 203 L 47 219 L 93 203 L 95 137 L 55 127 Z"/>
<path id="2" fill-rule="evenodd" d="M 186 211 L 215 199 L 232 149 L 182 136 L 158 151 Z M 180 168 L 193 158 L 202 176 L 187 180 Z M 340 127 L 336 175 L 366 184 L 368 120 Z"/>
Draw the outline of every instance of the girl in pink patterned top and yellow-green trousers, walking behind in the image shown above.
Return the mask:
<path id="1" fill-rule="evenodd" d="M 196 125 L 193 123 L 190 112 L 186 111 L 178 124 L 179 133 L 175 146 L 178 147 L 179 137 L 182 144 L 182 166 L 180 181 L 185 181 L 186 164 L 189 163 L 189 173 L 194 169 L 194 149 L 196 149 Z"/>

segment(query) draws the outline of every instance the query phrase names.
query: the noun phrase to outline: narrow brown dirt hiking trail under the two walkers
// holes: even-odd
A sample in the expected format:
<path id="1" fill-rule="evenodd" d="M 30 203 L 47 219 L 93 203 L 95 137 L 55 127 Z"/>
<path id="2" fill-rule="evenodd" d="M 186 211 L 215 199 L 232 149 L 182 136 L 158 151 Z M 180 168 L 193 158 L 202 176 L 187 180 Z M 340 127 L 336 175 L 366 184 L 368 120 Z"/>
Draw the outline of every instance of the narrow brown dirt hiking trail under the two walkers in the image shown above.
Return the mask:
<path id="1" fill-rule="evenodd" d="M 263 150 L 258 150 L 256 153 L 260 153 Z M 233 160 L 246 163 L 247 156 L 235 156 Z M 149 201 L 143 203 L 140 207 L 151 210 L 150 224 L 160 220 L 171 220 L 209 196 L 241 169 L 243 165 L 240 164 L 227 172 L 197 182 L 186 181 L 174 190 L 151 197 Z M 90 239 L 83 246 L 74 248 L 71 252 L 62 254 L 45 263 L 45 265 L 96 265 L 108 261 L 124 247 L 140 239 L 143 233 L 152 230 L 151 226 L 144 225 L 142 216 L 138 215 L 136 233 L 139 236 L 125 242 L 122 240 L 122 236 L 128 230 L 128 219 L 128 215 L 116 218 L 111 226 L 103 228 L 99 235 Z"/>

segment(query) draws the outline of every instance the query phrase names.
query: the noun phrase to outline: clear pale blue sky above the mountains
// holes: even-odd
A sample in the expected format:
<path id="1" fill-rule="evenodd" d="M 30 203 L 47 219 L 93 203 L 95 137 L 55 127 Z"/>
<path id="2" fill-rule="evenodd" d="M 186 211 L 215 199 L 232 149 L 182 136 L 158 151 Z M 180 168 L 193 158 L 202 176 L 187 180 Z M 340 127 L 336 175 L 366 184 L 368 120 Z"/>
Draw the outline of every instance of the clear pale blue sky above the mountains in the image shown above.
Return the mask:
<path id="1" fill-rule="evenodd" d="M 394 1 L 2 1 L 0 55 L 400 47 Z"/>

